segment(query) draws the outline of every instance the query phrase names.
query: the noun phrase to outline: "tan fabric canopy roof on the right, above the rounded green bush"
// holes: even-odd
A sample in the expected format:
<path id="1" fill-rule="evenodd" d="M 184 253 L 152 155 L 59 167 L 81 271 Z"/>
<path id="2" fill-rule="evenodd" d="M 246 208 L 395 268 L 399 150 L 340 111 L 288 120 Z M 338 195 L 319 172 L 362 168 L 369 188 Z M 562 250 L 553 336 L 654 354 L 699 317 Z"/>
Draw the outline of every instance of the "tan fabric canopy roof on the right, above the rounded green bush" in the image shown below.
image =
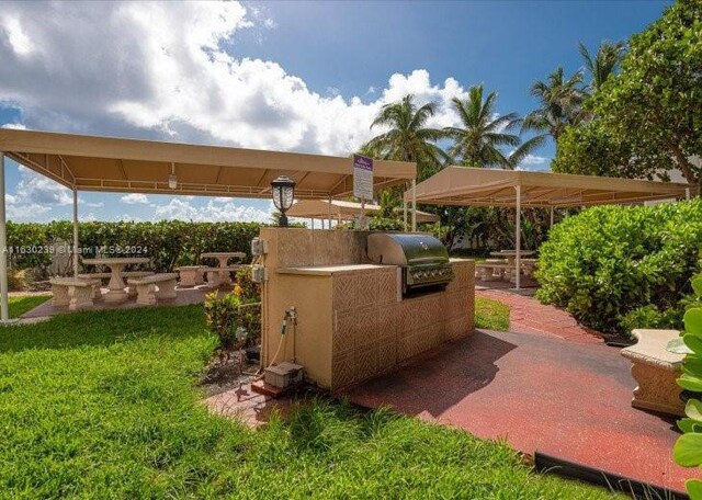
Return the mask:
<path id="1" fill-rule="evenodd" d="M 435 205 L 567 207 L 681 198 L 689 184 L 523 170 L 446 167 L 417 184 L 417 203 Z M 405 201 L 411 201 L 411 190 Z"/>

